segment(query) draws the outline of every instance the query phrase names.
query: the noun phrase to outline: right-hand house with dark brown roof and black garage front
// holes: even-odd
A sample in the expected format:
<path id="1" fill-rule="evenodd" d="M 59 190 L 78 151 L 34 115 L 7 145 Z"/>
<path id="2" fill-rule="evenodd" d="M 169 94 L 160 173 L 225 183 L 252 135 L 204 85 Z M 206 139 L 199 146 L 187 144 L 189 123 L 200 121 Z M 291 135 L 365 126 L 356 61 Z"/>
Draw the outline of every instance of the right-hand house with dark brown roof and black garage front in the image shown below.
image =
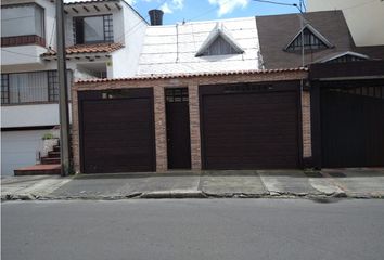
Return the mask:
<path id="1" fill-rule="evenodd" d="M 302 110 L 303 120 L 311 121 L 303 128 L 311 140 L 309 165 L 384 166 L 384 46 L 356 47 L 342 11 L 304 17 L 309 78 L 303 88 L 310 100 Z M 297 14 L 256 17 L 266 69 L 302 65 L 299 21 Z"/>

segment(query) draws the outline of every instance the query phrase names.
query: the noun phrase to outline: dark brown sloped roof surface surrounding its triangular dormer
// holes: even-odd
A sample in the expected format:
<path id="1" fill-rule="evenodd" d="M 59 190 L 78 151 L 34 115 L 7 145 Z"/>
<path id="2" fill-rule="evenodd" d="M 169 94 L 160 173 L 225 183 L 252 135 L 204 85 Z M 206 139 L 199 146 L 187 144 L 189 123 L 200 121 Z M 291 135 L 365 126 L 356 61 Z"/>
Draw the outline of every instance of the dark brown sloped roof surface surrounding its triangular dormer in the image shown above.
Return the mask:
<path id="1" fill-rule="evenodd" d="M 305 13 L 305 20 L 318 30 L 333 48 L 306 51 L 306 64 L 313 63 L 332 53 L 353 51 L 355 48 L 342 11 Z M 259 32 L 260 52 L 266 68 L 296 67 L 302 65 L 300 52 L 286 52 L 284 47 L 300 31 L 300 17 L 297 14 L 256 17 Z M 363 52 L 360 52 L 364 54 Z"/>

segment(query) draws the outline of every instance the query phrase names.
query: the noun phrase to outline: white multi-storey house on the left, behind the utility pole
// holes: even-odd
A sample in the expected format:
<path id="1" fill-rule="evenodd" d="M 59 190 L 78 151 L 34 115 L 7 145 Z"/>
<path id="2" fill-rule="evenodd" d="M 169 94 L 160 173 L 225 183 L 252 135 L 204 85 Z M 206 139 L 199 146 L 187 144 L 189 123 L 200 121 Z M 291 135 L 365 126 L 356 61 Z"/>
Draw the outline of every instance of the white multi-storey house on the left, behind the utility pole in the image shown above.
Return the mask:
<path id="1" fill-rule="evenodd" d="M 125 1 L 67 3 L 73 80 L 135 75 L 146 22 Z M 54 1 L 1 2 L 1 173 L 34 165 L 41 136 L 59 123 Z M 69 95 L 71 99 L 71 95 Z"/>

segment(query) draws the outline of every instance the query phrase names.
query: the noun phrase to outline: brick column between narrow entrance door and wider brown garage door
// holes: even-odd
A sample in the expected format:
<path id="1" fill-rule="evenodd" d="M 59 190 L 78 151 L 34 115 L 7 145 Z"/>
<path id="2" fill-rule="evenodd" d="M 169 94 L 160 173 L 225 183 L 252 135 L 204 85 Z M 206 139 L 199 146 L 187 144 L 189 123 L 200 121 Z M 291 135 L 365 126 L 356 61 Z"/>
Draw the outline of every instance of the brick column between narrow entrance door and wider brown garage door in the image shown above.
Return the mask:
<path id="1" fill-rule="evenodd" d="M 191 165 L 192 170 L 202 169 L 202 153 L 200 139 L 199 86 L 189 84 L 190 131 L 191 131 Z"/>

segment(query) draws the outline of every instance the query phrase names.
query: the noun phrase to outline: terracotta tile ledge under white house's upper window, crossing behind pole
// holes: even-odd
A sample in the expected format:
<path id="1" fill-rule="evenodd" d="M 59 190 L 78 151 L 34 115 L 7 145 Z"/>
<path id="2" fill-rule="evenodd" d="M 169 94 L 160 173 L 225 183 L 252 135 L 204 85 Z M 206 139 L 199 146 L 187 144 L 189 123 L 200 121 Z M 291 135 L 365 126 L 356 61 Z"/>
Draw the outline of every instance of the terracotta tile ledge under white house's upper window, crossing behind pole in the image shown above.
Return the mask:
<path id="1" fill-rule="evenodd" d="M 114 52 L 121 49 L 121 43 L 94 43 L 94 44 L 77 44 L 66 48 L 66 54 L 79 54 L 79 53 L 100 53 L 100 52 Z M 54 56 L 56 51 L 49 50 L 43 56 Z"/>

